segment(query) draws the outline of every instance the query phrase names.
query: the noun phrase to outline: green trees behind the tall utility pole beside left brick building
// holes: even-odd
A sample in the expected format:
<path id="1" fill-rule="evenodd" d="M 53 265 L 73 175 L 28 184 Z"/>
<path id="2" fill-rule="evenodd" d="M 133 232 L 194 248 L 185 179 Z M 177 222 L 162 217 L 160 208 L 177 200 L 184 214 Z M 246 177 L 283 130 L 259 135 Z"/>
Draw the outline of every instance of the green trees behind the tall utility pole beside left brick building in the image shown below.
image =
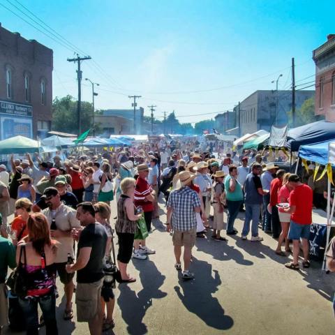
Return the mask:
<path id="1" fill-rule="evenodd" d="M 92 104 L 82 101 L 81 105 L 81 126 L 82 131 L 92 128 Z M 77 101 L 73 96 L 54 98 L 52 102 L 52 130 L 64 133 L 78 133 L 77 124 Z M 96 133 L 100 131 L 98 124 L 94 125 Z"/>

